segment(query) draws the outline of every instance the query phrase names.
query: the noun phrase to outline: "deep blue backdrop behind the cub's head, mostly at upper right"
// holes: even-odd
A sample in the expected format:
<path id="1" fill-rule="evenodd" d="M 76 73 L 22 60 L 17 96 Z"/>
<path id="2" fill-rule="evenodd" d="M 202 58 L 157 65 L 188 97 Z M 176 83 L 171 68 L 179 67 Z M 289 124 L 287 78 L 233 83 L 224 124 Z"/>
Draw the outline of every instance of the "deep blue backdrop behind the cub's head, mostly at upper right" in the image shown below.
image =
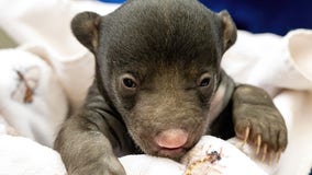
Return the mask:
<path id="1" fill-rule="evenodd" d="M 125 0 L 100 0 L 122 3 Z M 200 0 L 219 12 L 226 9 L 239 30 L 285 35 L 294 28 L 312 28 L 311 0 Z"/>

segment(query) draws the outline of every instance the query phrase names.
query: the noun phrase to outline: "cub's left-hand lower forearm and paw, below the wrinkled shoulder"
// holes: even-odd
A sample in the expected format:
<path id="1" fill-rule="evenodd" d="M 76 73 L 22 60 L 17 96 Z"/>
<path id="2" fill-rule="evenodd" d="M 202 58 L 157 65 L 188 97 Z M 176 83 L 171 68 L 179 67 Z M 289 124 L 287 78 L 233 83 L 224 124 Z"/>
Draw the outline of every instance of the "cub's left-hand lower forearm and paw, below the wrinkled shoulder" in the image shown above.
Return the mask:
<path id="1" fill-rule="evenodd" d="M 55 141 L 68 175 L 125 175 L 107 137 L 79 122 L 85 121 L 69 118 Z"/>

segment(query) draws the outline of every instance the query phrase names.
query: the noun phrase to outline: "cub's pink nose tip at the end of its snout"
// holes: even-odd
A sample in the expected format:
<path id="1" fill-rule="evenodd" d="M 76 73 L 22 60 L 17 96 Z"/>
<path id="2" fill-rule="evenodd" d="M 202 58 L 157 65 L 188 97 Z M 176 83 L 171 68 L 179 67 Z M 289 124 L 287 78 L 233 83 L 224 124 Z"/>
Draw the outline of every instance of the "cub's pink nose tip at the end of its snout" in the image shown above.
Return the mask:
<path id="1" fill-rule="evenodd" d="M 168 129 L 155 137 L 155 142 L 165 149 L 178 149 L 186 144 L 188 133 L 182 129 Z"/>

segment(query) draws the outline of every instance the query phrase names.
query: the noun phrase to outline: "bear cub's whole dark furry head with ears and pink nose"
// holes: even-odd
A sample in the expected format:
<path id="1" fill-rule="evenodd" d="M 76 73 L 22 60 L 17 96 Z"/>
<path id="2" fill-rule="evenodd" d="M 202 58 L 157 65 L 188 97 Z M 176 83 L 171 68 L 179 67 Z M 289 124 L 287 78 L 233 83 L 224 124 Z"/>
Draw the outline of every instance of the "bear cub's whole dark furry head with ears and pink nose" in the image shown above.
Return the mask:
<path id="1" fill-rule="evenodd" d="M 71 28 L 144 152 L 179 159 L 209 129 L 220 61 L 236 39 L 227 12 L 197 0 L 131 0 L 105 16 L 80 13 Z"/>

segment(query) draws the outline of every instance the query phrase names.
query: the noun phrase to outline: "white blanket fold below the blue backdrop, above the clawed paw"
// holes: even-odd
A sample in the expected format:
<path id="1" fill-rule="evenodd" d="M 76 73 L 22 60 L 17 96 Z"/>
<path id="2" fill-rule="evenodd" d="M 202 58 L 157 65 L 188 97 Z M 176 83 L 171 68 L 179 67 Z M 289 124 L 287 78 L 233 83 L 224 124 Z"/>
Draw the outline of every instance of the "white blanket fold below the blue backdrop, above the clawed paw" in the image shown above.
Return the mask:
<path id="1" fill-rule="evenodd" d="M 310 30 L 296 30 L 285 37 L 241 31 L 222 67 L 235 81 L 264 88 L 272 97 L 283 89 L 312 90 L 311 48 Z"/>

